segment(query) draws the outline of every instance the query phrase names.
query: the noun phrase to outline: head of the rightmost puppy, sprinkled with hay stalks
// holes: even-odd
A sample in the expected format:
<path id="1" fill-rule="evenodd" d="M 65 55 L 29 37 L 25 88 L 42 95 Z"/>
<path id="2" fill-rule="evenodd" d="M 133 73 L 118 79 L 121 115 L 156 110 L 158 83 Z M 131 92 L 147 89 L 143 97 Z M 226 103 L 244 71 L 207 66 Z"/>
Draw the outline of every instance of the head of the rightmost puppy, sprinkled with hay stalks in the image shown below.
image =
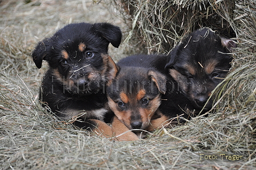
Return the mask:
<path id="1" fill-rule="evenodd" d="M 171 51 L 166 68 L 195 108 L 205 106 L 211 91 L 229 72 L 233 58 L 228 53 L 235 46 L 230 39 L 201 29 L 191 33 Z M 205 108 L 211 105 L 212 101 Z"/>

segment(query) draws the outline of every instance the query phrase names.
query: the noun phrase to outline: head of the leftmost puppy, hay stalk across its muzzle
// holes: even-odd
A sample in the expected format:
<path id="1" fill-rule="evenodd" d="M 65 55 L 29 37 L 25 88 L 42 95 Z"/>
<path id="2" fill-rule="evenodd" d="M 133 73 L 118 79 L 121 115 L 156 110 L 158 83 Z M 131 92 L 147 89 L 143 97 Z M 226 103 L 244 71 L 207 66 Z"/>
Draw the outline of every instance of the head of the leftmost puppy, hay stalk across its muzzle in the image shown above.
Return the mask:
<path id="1" fill-rule="evenodd" d="M 75 23 L 38 43 L 33 60 L 38 68 L 42 60 L 50 66 L 53 81 L 71 94 L 98 92 L 109 71 L 109 43 L 118 47 L 121 30 L 109 23 Z"/>

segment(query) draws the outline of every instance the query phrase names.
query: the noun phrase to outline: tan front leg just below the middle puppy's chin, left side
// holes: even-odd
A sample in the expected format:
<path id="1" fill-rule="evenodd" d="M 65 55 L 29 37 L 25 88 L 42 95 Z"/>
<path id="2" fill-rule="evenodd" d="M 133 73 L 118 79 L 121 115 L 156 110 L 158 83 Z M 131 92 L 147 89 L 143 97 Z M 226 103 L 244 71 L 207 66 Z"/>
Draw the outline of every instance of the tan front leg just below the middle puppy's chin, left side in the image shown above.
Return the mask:
<path id="1" fill-rule="evenodd" d="M 121 135 L 121 136 L 115 137 L 116 140 L 118 141 L 133 141 L 133 140 L 138 140 L 139 137 L 129 131 L 130 129 L 125 126 L 118 118 L 117 116 L 114 116 L 113 122 L 112 122 L 112 132 L 114 136 Z M 129 131 L 129 132 L 127 132 Z M 126 133 L 125 133 L 126 132 Z"/>

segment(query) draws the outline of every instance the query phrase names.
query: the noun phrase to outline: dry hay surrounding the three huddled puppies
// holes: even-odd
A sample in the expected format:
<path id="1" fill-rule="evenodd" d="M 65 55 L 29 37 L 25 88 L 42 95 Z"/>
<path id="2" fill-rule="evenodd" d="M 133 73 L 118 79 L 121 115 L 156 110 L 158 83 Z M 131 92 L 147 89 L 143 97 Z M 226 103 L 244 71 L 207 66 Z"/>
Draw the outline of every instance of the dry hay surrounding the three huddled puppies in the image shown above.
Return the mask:
<path id="1" fill-rule="evenodd" d="M 38 41 L 52 35 L 70 22 L 111 22 L 120 25 L 125 32 L 125 38 L 129 37 L 128 31 L 132 28 L 129 18 L 135 21 L 136 18 L 133 17 L 137 15 L 129 17 L 122 13 L 127 23 L 115 16 L 119 14 L 118 8 L 124 4 L 123 1 L 111 1 L 117 9 L 113 5 L 110 8 L 106 1 L 101 1 L 98 5 L 82 0 L 42 0 L 27 4 L 23 2 L 9 0 L 0 3 L 0 169 L 253 169 L 256 167 L 255 1 L 236 1 L 232 15 L 223 13 L 222 7 L 225 7 L 226 1 L 213 1 L 211 5 L 215 4 L 213 6 L 215 10 L 210 8 L 208 10 L 208 14 L 214 12 L 222 15 L 223 23 L 227 22 L 233 28 L 239 42 L 231 73 L 216 91 L 218 98 L 213 109 L 215 114 L 207 118 L 199 116 L 184 126 L 156 131 L 146 139 L 131 142 L 112 142 L 102 137 L 88 136 L 87 132 L 59 122 L 43 110 L 38 103 L 38 87 L 46 70 L 46 64 L 43 69 L 38 70 L 30 54 Z M 150 6 L 146 2 L 148 1 L 138 1 L 138 4 L 148 6 L 148 9 L 150 7 L 154 10 L 162 9 Z M 203 6 L 200 11 L 196 2 L 173 1 L 182 9 L 179 15 L 183 15 L 183 10 L 187 15 L 192 15 L 189 11 L 193 10 L 197 12 L 194 14 L 200 14 L 194 16 L 199 19 L 205 16 L 207 11 L 204 11 Z M 202 5 L 203 3 L 206 1 L 202 1 Z M 187 6 L 188 4 L 190 5 Z M 136 8 L 135 4 L 133 6 Z M 170 9 L 175 7 L 172 4 L 168 6 Z M 133 8 L 130 6 L 122 9 L 127 11 Z M 171 47 L 183 34 L 193 29 L 193 26 L 185 23 L 185 20 L 181 26 L 181 23 L 175 23 L 177 19 L 165 21 L 165 16 L 159 15 L 159 11 L 154 15 L 162 17 L 156 23 L 171 22 L 173 27 L 165 31 L 169 33 L 169 37 L 175 38 L 169 38 L 167 35 L 162 38 L 157 37 L 157 34 L 161 33 L 161 25 L 155 25 L 155 29 L 150 29 L 157 34 L 148 34 L 154 35 L 154 43 L 149 42 L 142 34 L 134 35 L 140 33 L 135 32 L 133 43 L 123 44 L 118 50 L 110 47 L 110 54 L 113 54 L 116 60 L 138 49 L 142 50 L 144 46 L 153 47 L 153 50 L 146 48 L 149 52 L 168 51 L 168 47 L 159 42 L 165 42 L 164 38 L 168 39 L 167 43 L 170 43 Z M 137 21 L 140 19 L 138 15 Z M 139 24 L 139 22 L 133 23 Z M 142 25 L 149 27 L 146 22 Z M 181 30 L 180 35 L 176 36 L 178 31 L 175 33 L 172 30 L 175 27 Z M 134 27 L 134 29 L 138 28 Z M 140 36 L 142 38 L 137 42 L 145 41 L 145 45 L 138 46 L 134 43 Z M 242 159 L 226 160 L 224 156 L 222 160 L 220 154 L 239 155 Z M 215 155 L 217 159 L 201 158 L 205 155 Z"/>

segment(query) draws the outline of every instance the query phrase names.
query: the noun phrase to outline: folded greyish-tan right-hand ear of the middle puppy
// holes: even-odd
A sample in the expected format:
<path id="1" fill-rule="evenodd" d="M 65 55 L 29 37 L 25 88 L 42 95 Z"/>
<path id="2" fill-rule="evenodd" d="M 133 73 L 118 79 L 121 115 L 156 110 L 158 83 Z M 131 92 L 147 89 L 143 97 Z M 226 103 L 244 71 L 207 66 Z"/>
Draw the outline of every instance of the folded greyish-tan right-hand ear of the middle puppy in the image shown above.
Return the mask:
<path id="1" fill-rule="evenodd" d="M 159 92 L 165 94 L 166 92 L 166 77 L 158 71 L 149 70 L 147 75 L 151 76 L 153 82 L 157 85 Z"/>

